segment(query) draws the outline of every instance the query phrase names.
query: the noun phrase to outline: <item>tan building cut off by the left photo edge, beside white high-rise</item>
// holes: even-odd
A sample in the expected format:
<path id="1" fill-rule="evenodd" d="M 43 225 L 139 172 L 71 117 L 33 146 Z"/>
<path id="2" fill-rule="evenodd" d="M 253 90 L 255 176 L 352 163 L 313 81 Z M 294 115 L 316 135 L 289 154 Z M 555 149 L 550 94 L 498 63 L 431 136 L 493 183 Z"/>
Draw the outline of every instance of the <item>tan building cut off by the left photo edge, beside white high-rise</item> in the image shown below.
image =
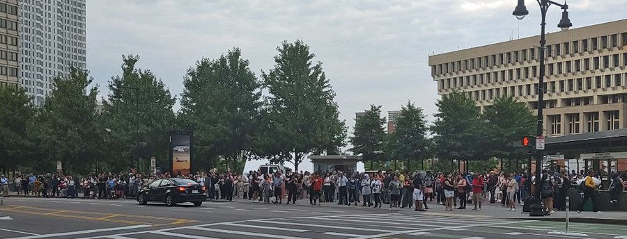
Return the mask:
<path id="1" fill-rule="evenodd" d="M 0 0 L 0 86 L 17 87 L 17 0 Z"/>

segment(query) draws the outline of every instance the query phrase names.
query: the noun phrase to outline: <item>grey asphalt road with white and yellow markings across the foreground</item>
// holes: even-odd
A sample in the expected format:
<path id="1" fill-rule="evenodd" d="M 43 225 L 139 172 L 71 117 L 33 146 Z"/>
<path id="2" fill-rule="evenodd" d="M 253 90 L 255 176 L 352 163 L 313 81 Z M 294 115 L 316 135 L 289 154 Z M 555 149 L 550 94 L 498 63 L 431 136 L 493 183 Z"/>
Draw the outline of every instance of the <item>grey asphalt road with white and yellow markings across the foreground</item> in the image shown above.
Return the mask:
<path id="1" fill-rule="evenodd" d="M 304 201 L 302 201 L 304 202 Z M 573 224 L 582 235 L 552 234 L 563 223 L 477 215 L 389 212 L 339 206 L 206 202 L 173 207 L 132 200 L 12 197 L 0 206 L 0 238 L 612 238 L 627 226 Z"/>

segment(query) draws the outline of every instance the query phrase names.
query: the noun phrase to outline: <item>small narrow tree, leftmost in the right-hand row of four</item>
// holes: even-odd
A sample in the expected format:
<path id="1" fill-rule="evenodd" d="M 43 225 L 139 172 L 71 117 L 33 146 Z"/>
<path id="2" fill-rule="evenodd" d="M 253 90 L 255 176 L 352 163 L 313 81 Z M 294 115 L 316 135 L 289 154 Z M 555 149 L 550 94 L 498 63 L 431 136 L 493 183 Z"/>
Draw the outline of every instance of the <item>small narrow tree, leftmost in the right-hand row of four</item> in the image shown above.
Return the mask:
<path id="1" fill-rule="evenodd" d="M 355 118 L 355 129 L 350 143 L 353 154 L 361 154 L 365 162 L 370 162 L 370 170 L 373 170 L 375 161 L 382 160 L 385 140 L 383 125 L 385 117 L 381 117 L 381 106 L 371 105 L 369 110 Z"/>

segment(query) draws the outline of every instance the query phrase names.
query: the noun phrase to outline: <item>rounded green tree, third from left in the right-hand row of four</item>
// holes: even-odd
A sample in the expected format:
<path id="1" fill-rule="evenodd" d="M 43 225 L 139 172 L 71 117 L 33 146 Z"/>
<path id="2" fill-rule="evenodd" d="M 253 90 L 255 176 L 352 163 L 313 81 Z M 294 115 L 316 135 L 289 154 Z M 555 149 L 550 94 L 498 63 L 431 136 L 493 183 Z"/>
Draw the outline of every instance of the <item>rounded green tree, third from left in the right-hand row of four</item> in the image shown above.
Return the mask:
<path id="1" fill-rule="evenodd" d="M 474 160 L 483 158 L 481 115 L 472 99 L 461 92 L 453 92 L 435 104 L 435 122 L 431 131 L 436 154 L 440 160 Z"/>

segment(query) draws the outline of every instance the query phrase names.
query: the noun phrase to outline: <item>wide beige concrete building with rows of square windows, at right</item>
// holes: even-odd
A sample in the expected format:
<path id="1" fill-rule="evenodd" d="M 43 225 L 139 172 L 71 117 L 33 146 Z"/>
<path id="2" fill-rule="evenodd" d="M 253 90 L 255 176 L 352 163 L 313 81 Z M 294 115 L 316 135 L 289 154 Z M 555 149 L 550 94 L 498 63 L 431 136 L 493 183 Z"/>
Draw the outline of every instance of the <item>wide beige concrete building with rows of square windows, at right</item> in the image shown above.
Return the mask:
<path id="1" fill-rule="evenodd" d="M 438 94 L 464 92 L 483 110 L 513 96 L 537 112 L 545 89 L 544 135 L 627 128 L 627 19 L 546 35 L 539 85 L 539 36 L 429 57 Z"/>

